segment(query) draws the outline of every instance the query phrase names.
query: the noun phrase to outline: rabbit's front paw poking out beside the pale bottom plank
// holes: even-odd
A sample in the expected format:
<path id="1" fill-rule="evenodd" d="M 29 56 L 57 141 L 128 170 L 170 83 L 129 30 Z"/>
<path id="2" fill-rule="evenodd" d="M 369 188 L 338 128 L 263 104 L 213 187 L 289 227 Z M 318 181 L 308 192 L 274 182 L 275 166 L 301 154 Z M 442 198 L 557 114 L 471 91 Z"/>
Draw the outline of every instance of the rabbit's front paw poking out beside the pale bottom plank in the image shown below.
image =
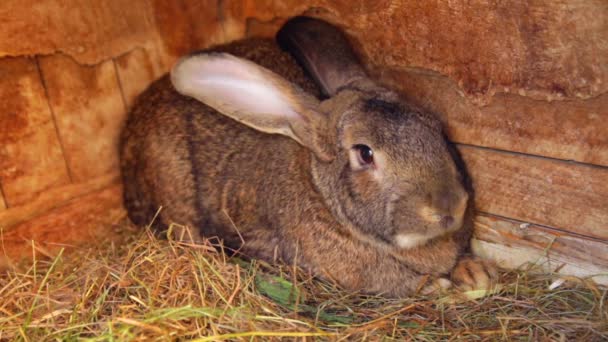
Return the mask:
<path id="1" fill-rule="evenodd" d="M 475 257 L 460 259 L 452 271 L 452 281 L 463 291 L 491 290 L 498 279 L 496 266 Z"/>

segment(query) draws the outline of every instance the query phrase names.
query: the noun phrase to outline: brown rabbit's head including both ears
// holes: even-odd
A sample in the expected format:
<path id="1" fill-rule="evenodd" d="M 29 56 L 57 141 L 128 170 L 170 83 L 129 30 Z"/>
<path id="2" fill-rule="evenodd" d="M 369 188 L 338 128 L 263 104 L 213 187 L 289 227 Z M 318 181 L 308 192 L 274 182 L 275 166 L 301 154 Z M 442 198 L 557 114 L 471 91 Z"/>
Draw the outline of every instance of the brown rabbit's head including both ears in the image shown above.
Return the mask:
<path id="1" fill-rule="evenodd" d="M 299 17 L 277 39 L 326 99 L 223 53 L 182 58 L 172 83 L 249 127 L 308 148 L 315 188 L 358 238 L 408 249 L 459 229 L 468 194 L 441 123 L 372 81 L 330 24 Z"/>

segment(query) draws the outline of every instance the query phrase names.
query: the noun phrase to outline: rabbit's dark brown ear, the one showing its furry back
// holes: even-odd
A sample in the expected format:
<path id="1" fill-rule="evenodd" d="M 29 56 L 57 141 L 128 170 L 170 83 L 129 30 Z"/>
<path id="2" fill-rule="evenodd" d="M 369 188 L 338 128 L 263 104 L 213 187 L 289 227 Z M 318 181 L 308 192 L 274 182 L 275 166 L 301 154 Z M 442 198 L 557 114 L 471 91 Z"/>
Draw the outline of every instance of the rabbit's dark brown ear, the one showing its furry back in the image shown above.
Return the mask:
<path id="1" fill-rule="evenodd" d="M 325 21 L 295 17 L 281 28 L 276 39 L 311 74 L 326 96 L 367 77 L 346 36 Z"/>

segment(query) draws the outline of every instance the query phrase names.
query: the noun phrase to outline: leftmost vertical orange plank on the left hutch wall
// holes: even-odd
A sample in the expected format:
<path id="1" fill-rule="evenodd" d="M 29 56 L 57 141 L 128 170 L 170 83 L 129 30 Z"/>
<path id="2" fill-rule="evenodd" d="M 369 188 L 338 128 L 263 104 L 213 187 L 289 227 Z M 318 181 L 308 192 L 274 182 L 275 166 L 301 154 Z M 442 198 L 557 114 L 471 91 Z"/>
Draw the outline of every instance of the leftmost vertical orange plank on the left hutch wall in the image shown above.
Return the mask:
<path id="1" fill-rule="evenodd" d="M 11 207 L 70 182 L 32 58 L 0 59 L 0 182 Z"/>

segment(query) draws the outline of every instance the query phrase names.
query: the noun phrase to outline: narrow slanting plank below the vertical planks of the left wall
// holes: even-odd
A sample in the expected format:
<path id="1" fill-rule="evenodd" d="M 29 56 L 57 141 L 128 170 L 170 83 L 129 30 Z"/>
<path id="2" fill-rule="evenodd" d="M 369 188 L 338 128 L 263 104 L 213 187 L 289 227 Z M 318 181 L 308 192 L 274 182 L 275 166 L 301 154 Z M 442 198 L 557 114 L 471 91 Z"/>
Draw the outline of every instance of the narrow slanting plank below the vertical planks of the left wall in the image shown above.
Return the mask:
<path id="1" fill-rule="evenodd" d="M 7 230 L 14 229 L 20 223 L 43 215 L 67 202 L 88 193 L 107 188 L 119 182 L 118 173 L 112 173 L 98 178 L 92 178 L 82 183 L 66 184 L 49 189 L 35 199 L 17 207 L 11 207 L 0 212 L 0 227 Z"/>

